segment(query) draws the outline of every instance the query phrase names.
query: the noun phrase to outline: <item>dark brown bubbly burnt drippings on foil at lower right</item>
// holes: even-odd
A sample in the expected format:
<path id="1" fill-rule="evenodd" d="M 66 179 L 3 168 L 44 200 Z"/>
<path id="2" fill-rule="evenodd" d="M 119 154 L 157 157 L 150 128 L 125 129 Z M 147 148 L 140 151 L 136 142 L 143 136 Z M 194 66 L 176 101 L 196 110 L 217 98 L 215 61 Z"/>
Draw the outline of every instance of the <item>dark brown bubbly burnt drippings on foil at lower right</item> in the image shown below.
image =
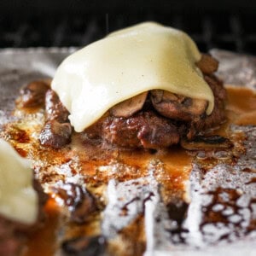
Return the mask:
<path id="1" fill-rule="evenodd" d="M 247 202 L 247 207 L 241 204 L 242 195 L 239 189 L 221 187 L 208 195 L 212 196 L 212 201 L 202 208 L 203 218 L 200 225 L 201 233 L 208 244 L 221 240 L 236 241 L 238 237 L 255 230 L 253 199 Z"/>

